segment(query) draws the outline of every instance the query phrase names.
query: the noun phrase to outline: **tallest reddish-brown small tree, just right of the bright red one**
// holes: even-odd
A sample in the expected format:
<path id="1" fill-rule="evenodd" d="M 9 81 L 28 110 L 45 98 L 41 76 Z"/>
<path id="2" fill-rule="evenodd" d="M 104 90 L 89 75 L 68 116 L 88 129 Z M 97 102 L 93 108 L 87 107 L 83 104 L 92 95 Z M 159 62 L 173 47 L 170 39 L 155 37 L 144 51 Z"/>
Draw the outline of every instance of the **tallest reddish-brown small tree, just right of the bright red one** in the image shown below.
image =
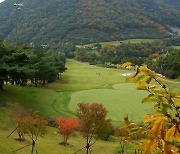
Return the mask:
<path id="1" fill-rule="evenodd" d="M 79 119 L 79 131 L 86 140 L 86 146 L 82 149 L 86 148 L 87 154 L 91 152 L 91 146 L 95 144 L 103 133 L 102 129 L 106 124 L 106 115 L 107 110 L 102 104 L 78 104 L 77 117 Z M 93 139 L 94 141 L 92 142 Z"/>

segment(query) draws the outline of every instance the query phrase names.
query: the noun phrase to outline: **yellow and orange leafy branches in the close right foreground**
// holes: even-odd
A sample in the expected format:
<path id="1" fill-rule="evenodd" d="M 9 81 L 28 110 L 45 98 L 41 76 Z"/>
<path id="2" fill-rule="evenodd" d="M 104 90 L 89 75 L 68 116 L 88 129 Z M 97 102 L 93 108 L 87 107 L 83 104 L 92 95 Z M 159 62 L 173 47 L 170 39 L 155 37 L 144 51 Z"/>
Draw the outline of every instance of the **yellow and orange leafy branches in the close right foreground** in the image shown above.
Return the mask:
<path id="1" fill-rule="evenodd" d="M 180 94 L 172 92 L 163 83 L 163 78 L 162 75 L 141 66 L 133 78 L 127 79 L 134 81 L 139 90 L 150 93 L 143 99 L 143 103 L 155 103 L 155 113 L 145 116 L 145 122 L 149 125 L 145 154 L 154 151 L 164 154 L 180 152 Z"/>

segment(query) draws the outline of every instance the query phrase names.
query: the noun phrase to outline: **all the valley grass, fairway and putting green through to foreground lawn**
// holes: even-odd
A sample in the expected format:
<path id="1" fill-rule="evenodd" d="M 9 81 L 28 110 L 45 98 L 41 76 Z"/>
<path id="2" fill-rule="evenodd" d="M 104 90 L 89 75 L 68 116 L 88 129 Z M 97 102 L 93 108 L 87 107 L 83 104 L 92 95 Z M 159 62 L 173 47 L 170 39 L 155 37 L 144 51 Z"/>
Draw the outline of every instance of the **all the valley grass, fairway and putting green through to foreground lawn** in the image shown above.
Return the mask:
<path id="1" fill-rule="evenodd" d="M 67 67 L 68 70 L 63 74 L 63 79 L 50 84 L 48 87 L 5 85 L 5 90 L 0 93 L 0 102 L 7 103 L 5 107 L 0 107 L 0 153 L 11 154 L 16 148 L 25 145 L 25 143 L 14 140 L 17 137 L 16 134 L 6 139 L 6 136 L 13 129 L 11 117 L 14 117 L 16 112 L 23 108 L 33 108 L 48 117 L 69 116 L 75 111 L 76 104 L 85 98 L 84 101 L 87 102 L 98 101 L 104 103 L 109 110 L 108 116 L 120 121 L 126 112 L 129 112 L 130 117 L 133 115 L 133 119 L 139 118 L 142 113 L 139 110 L 137 111 L 137 107 L 142 112 L 146 110 L 140 102 L 135 101 L 140 106 L 132 105 L 133 100 L 140 101 L 139 96 L 143 98 L 146 94 L 134 90 L 132 84 L 125 84 L 125 77 L 121 76 L 122 73 L 132 73 L 132 71 L 100 68 L 74 60 L 69 60 Z M 128 110 L 126 107 L 128 107 Z M 49 128 L 49 131 L 38 142 L 39 153 L 73 153 L 84 146 L 84 141 L 79 135 L 69 140 L 70 146 L 60 146 L 58 143 L 61 141 L 61 137 L 54 134 L 56 129 Z M 98 141 L 93 149 L 95 153 L 111 154 L 117 148 L 117 141 Z M 30 148 L 27 148 L 17 153 L 26 154 L 29 151 Z"/>

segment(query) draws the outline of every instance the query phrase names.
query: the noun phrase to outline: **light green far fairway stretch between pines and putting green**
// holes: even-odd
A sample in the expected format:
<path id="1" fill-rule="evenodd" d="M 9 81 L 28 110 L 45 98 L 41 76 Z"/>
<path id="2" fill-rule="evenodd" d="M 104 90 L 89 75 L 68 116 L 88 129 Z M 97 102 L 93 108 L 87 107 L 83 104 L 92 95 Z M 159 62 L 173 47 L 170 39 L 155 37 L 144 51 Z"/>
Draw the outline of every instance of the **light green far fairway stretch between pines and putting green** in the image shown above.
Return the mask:
<path id="1" fill-rule="evenodd" d="M 74 60 L 68 61 L 67 68 L 68 70 L 63 74 L 62 80 L 51 84 L 50 87 L 63 90 L 101 88 L 106 84 L 124 82 L 125 78 L 121 74 L 132 73 L 132 71 L 127 70 L 96 67 Z"/>

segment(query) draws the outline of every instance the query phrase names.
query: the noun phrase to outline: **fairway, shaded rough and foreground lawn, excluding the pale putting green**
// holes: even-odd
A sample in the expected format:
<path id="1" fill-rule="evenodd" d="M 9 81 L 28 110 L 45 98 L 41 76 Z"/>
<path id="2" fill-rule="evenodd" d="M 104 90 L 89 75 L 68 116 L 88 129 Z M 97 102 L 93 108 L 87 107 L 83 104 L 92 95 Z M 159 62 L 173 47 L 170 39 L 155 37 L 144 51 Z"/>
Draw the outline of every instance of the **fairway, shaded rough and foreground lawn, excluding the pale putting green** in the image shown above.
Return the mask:
<path id="1" fill-rule="evenodd" d="M 0 102 L 7 103 L 5 107 L 0 107 L 0 153 L 11 154 L 13 150 L 27 144 L 15 141 L 14 139 L 17 137 L 17 134 L 13 134 L 8 139 L 6 138 L 13 130 L 11 117 L 15 117 L 20 109 L 33 108 L 45 116 L 68 116 L 71 114 L 71 111 L 67 105 L 72 93 L 102 88 L 105 85 L 106 87 L 111 87 L 112 84 L 124 82 L 124 77 L 121 77 L 120 74 L 127 72 L 126 70 L 117 71 L 89 66 L 88 64 L 73 60 L 68 61 L 67 67 L 68 71 L 63 74 L 63 79 L 60 82 L 50 84 L 48 87 L 35 88 L 5 85 L 5 90 L 0 93 Z M 97 72 L 103 78 L 97 75 Z M 84 146 L 84 140 L 79 135 L 69 140 L 70 146 L 68 147 L 58 145 L 62 137 L 55 135 L 55 131 L 57 130 L 49 128 L 49 133 L 44 138 L 40 138 L 38 142 L 39 153 L 73 153 Z M 111 154 L 117 148 L 117 141 L 98 141 L 94 145 L 93 150 L 100 154 L 104 153 L 104 151 L 107 154 Z M 29 152 L 30 147 L 17 153 L 25 154 Z"/>

